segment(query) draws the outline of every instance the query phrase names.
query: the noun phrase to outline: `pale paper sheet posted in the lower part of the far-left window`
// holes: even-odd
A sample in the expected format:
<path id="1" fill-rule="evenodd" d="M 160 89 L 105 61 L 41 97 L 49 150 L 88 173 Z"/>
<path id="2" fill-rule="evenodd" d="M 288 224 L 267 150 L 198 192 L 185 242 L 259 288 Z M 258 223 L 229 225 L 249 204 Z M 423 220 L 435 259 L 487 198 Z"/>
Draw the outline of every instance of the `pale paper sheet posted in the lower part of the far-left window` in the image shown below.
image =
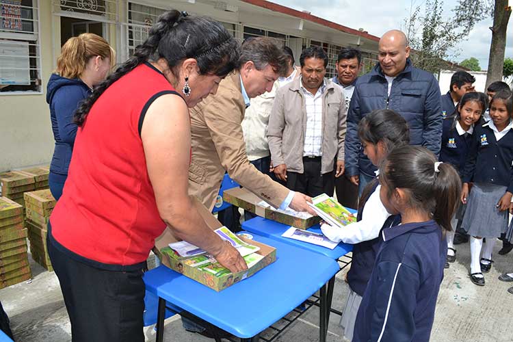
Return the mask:
<path id="1" fill-rule="evenodd" d="M 0 40 L 0 85 L 30 85 L 29 42 Z"/>

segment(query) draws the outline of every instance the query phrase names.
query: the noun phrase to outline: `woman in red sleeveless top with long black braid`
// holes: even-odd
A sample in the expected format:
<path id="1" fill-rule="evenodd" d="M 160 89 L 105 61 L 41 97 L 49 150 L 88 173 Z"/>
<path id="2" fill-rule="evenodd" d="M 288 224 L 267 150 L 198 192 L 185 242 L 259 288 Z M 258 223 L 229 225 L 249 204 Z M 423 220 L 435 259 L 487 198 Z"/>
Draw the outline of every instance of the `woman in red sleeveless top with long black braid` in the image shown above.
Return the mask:
<path id="1" fill-rule="evenodd" d="M 220 23 L 166 12 L 75 113 L 73 157 L 48 234 L 73 342 L 144 341 L 142 270 L 166 225 L 231 271 L 246 269 L 187 196 L 187 107 L 216 92 L 238 51 Z"/>

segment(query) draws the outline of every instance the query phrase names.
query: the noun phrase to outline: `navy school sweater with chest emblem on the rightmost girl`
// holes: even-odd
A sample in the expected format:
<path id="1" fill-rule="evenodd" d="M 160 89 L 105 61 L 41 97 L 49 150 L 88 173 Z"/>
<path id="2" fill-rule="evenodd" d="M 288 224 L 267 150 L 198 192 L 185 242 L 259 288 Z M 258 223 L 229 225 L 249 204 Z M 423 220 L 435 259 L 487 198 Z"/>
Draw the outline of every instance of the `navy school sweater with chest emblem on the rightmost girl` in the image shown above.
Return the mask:
<path id="1" fill-rule="evenodd" d="M 513 129 L 497 142 L 488 122 L 475 127 L 467 153 L 463 182 L 508 187 L 513 193 Z"/>

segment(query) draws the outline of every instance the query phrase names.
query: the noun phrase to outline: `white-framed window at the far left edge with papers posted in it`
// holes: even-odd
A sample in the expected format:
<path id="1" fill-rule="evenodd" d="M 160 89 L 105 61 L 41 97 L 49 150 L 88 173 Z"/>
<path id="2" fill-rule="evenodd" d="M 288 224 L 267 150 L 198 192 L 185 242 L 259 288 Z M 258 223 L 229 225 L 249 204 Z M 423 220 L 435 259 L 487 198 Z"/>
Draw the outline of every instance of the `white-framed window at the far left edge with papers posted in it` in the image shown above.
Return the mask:
<path id="1" fill-rule="evenodd" d="M 0 93 L 40 92 L 38 0 L 0 0 Z"/>

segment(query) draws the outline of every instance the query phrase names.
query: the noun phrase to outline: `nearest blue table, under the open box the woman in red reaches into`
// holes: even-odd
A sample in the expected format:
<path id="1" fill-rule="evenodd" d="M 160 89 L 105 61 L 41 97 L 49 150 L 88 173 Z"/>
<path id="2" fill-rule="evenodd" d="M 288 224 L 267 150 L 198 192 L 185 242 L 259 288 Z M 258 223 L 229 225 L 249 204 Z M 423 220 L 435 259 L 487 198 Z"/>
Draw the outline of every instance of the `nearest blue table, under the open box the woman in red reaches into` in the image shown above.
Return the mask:
<path id="1" fill-rule="evenodd" d="M 276 261 L 246 280 L 216 292 L 165 266 L 144 274 L 146 290 L 159 297 L 157 342 L 163 341 L 166 301 L 240 337 L 254 337 L 285 317 L 320 289 L 322 328 L 326 341 L 329 312 L 326 282 L 339 271 L 334 259 L 280 241 L 255 236 L 255 240 L 276 248 Z"/>

